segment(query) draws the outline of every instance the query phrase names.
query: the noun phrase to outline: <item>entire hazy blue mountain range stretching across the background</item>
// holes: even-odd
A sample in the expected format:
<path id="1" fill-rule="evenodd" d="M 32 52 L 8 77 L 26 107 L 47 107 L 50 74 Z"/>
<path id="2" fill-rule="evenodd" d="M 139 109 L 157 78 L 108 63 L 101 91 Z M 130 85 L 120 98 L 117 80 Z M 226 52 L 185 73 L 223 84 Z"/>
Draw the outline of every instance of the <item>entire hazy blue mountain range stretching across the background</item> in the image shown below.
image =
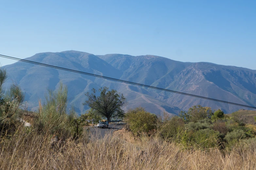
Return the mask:
<path id="1" fill-rule="evenodd" d="M 97 75 L 156 86 L 233 103 L 256 106 L 256 70 L 212 63 L 183 63 L 164 57 L 123 54 L 93 55 L 79 51 L 39 53 L 27 60 Z M 37 109 L 47 89 L 55 90 L 60 81 L 68 86 L 69 107 L 83 113 L 87 106 L 84 93 L 107 86 L 124 94 L 129 104 L 162 115 L 178 114 L 194 105 L 210 106 L 231 113 L 242 107 L 115 82 L 102 78 L 24 62 L 4 66 L 9 74 L 8 86 L 15 81 L 26 92 L 31 109 Z M 246 109 L 246 108 L 245 108 Z"/>

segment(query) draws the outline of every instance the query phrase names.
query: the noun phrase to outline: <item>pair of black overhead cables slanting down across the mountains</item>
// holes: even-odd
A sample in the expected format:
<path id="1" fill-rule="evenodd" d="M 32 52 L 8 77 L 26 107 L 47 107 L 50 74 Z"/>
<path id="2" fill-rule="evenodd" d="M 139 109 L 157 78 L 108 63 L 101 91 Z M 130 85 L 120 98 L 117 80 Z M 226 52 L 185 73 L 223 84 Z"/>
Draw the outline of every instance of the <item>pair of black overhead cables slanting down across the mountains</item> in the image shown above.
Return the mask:
<path id="1" fill-rule="evenodd" d="M 157 90 L 162 90 L 162 91 L 166 91 L 166 92 L 173 92 L 173 93 L 188 95 L 188 96 L 192 96 L 192 97 L 197 97 L 197 98 L 212 100 L 212 101 L 216 101 L 216 102 L 222 102 L 222 103 L 227 103 L 227 104 L 231 104 L 231 105 L 243 106 L 243 107 L 248 107 L 248 108 L 256 109 L 256 107 L 254 107 L 254 106 L 247 106 L 247 105 L 242 105 L 242 104 L 238 104 L 238 103 L 232 103 L 232 102 L 227 102 L 227 101 L 223 101 L 223 100 L 218 100 L 218 99 L 213 99 L 213 98 L 198 96 L 198 95 L 194 95 L 194 94 L 188 94 L 188 93 L 183 93 L 183 92 L 177 92 L 177 91 L 168 90 L 168 89 L 163 89 L 163 88 L 159 88 L 159 87 L 148 86 L 148 85 L 145 85 L 145 84 L 134 83 L 134 82 L 131 82 L 131 81 L 119 80 L 119 79 L 116 79 L 116 78 L 110 78 L 110 77 L 100 76 L 100 75 L 91 74 L 91 73 L 86 73 L 86 72 L 82 72 L 82 71 L 72 70 L 72 69 L 68 69 L 68 68 L 58 67 L 58 66 L 54 66 L 54 65 L 43 64 L 43 63 L 33 62 L 33 61 L 29 61 L 29 60 L 19 59 L 19 58 L 15 58 L 15 57 L 6 56 L 6 55 L 1 55 L 1 54 L 0 54 L 0 57 L 12 59 L 12 60 L 18 60 L 18 61 L 22 61 L 22 62 L 26 62 L 26 63 L 31 63 L 31 64 L 42 65 L 42 66 L 51 67 L 51 68 L 56 68 L 56 69 L 60 69 L 60 70 L 66 70 L 66 71 L 70 71 L 70 72 L 74 72 L 74 73 L 79 73 L 79 74 L 84 74 L 84 75 L 88 75 L 88 76 L 94 76 L 94 77 L 98 77 L 98 78 L 105 78 L 105 79 L 109 79 L 109 80 L 113 80 L 113 81 L 119 81 L 119 82 L 128 83 L 128 84 L 132 84 L 132 85 L 138 85 L 138 86 L 148 87 L 148 88 L 157 89 Z"/>

